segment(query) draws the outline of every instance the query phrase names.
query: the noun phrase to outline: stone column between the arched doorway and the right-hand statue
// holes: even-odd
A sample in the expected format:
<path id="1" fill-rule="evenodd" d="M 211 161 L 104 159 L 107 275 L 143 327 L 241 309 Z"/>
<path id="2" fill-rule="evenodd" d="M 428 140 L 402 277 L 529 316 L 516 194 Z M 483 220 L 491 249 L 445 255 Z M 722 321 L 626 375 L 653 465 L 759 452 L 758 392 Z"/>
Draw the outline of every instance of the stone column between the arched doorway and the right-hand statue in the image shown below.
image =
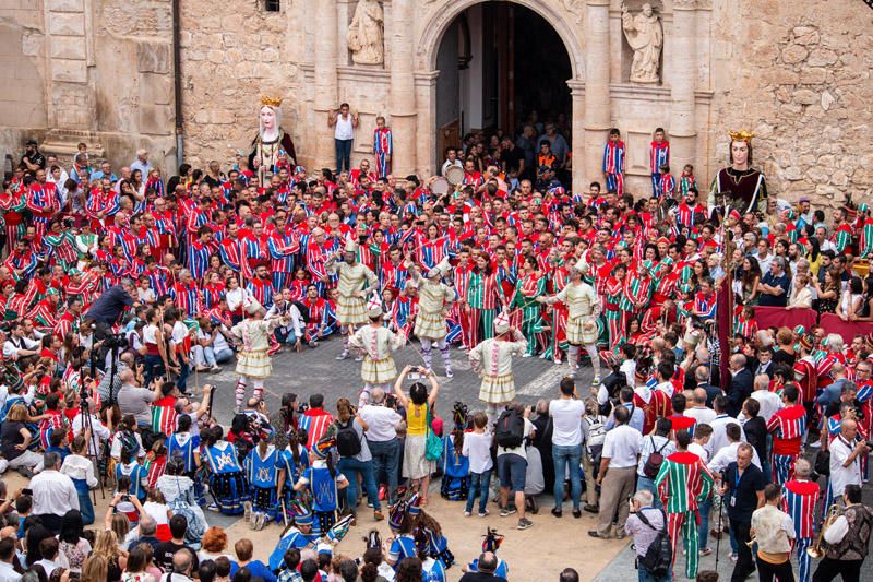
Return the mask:
<path id="1" fill-rule="evenodd" d="M 585 179 L 602 183 L 602 152 L 612 112 L 609 96 L 609 0 L 587 0 L 585 39 Z M 574 97 L 574 104 L 576 100 Z M 573 163 L 577 162 L 574 159 Z M 577 181 L 574 179 L 574 186 Z"/>

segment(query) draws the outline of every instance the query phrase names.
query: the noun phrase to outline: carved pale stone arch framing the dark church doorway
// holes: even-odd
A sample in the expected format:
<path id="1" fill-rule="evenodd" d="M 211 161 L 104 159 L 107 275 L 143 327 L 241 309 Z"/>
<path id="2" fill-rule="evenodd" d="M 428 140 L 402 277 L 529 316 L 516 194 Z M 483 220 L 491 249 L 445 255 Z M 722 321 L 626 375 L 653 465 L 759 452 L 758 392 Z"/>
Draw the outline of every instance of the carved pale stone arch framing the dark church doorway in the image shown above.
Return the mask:
<path id="1" fill-rule="evenodd" d="M 455 2 L 441 3 L 431 9 L 431 13 L 424 17 L 421 25 L 421 34 L 416 44 L 416 102 L 417 102 L 417 128 L 419 135 L 428 135 L 428 140 L 418 140 L 417 162 L 420 173 L 429 174 L 436 169 L 440 163 L 435 155 L 435 120 L 436 120 L 436 69 L 438 54 L 443 37 L 455 21 L 470 7 L 483 3 L 485 0 L 457 0 Z M 585 72 L 590 63 L 586 63 L 585 52 L 582 44 L 582 26 L 577 25 L 577 19 L 567 19 L 565 14 L 557 10 L 557 3 L 550 0 L 511 0 L 513 4 L 528 8 L 542 16 L 546 22 L 555 31 L 561 38 L 566 54 L 570 58 L 572 76 L 567 81 L 572 95 L 572 126 L 573 126 L 573 154 L 574 159 L 582 158 L 585 141 L 584 132 L 584 86 Z M 591 0 L 589 0 L 590 2 Z M 605 9 L 608 10 L 608 0 L 603 1 Z M 603 21 L 606 24 L 606 21 Z M 575 164 L 573 167 L 573 186 L 579 188 L 582 183 L 582 165 Z"/>

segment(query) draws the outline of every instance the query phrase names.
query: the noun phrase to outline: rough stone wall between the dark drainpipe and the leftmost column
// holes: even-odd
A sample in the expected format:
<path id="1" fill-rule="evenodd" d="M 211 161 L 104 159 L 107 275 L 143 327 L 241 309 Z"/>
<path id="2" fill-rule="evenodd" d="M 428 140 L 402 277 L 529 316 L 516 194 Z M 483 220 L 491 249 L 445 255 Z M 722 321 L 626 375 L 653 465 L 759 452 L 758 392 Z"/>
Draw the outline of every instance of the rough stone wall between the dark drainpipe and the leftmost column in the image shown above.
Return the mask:
<path id="1" fill-rule="evenodd" d="M 191 164 L 232 159 L 258 131 L 262 94 L 279 95 L 283 126 L 296 142 L 298 40 L 289 28 L 306 19 L 311 0 L 283 2 L 266 12 L 263 1 L 182 1 L 184 157 Z M 296 8 L 296 10 L 295 10 Z"/>

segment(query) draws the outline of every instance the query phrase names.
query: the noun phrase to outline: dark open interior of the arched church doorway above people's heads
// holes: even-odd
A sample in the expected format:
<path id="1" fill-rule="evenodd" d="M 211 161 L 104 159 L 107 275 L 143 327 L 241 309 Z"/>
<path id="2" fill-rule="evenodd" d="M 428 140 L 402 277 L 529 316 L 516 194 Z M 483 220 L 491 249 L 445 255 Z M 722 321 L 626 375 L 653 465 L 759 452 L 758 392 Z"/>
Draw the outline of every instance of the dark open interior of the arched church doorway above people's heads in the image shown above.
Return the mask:
<path id="1" fill-rule="evenodd" d="M 570 141 L 573 76 L 555 29 L 521 4 L 487 1 L 458 14 L 436 55 L 436 152 L 461 145 L 471 131 L 513 138 L 524 124 L 541 134 L 554 123 Z"/>

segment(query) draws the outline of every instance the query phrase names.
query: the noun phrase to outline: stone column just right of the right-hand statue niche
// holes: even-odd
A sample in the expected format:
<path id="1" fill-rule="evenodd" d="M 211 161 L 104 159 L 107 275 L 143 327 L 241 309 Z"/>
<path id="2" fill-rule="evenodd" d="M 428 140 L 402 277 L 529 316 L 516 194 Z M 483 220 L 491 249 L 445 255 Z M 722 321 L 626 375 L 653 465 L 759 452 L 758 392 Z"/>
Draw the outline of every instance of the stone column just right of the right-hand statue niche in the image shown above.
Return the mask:
<path id="1" fill-rule="evenodd" d="M 673 1 L 673 43 L 670 84 L 670 170 L 682 174 L 682 166 L 694 164 L 697 126 L 694 90 L 697 79 L 697 0 Z"/>

